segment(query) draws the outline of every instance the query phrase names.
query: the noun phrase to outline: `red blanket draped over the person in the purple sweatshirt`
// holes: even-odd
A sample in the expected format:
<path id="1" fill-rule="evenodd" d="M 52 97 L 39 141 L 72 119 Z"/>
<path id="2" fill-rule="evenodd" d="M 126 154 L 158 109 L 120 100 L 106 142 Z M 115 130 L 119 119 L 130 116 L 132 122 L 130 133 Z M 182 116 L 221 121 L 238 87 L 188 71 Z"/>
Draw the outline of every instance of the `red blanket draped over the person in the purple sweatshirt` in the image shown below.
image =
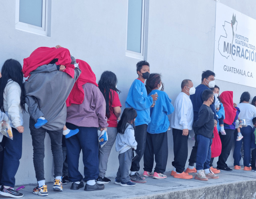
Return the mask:
<path id="1" fill-rule="evenodd" d="M 90 65 L 86 63 L 83 60 L 76 59 L 76 62 L 79 63 L 79 68 L 82 71 L 79 78 L 77 79 L 76 83 L 73 86 L 73 89 L 71 90 L 67 100 L 66 104 L 67 106 L 70 106 L 71 104 L 82 104 L 84 100 L 84 90 L 83 85 L 86 83 L 92 83 L 96 86 L 98 84 L 96 83 L 96 76 L 93 73 Z"/>

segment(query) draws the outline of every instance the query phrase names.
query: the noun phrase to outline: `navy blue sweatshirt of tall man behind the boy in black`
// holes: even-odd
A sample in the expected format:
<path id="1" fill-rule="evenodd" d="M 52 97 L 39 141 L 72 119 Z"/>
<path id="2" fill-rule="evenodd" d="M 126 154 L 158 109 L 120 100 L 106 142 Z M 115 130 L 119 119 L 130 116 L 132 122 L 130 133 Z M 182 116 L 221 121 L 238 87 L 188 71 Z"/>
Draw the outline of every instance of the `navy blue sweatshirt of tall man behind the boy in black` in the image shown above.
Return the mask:
<path id="1" fill-rule="evenodd" d="M 202 93 L 206 89 L 209 89 L 206 85 L 199 84 L 196 87 L 196 93 L 194 95 L 190 95 L 190 100 L 192 102 L 193 111 L 194 111 L 194 121 L 196 121 L 198 119 L 199 109 L 202 106 L 202 104 L 204 103 L 203 98 L 202 98 Z M 211 89 L 209 89 L 209 90 L 211 90 Z M 215 100 L 215 97 L 214 97 L 214 100 Z M 214 103 L 212 105 L 210 105 L 210 108 L 212 109 L 212 112 L 214 113 L 214 119 L 218 121 Z"/>

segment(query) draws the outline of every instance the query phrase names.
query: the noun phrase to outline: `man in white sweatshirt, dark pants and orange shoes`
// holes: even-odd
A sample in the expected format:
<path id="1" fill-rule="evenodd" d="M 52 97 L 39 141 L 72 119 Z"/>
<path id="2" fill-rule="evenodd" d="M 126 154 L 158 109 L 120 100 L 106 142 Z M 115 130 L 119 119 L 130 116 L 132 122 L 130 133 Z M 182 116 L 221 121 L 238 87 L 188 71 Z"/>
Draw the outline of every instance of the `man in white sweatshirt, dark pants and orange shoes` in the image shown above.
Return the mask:
<path id="1" fill-rule="evenodd" d="M 185 173 L 185 164 L 188 158 L 188 135 L 193 125 L 193 105 L 189 98 L 196 89 L 191 80 L 185 79 L 181 83 L 181 92 L 174 102 L 174 112 L 171 115 L 170 125 L 173 128 L 174 178 L 191 179 L 192 175 Z"/>

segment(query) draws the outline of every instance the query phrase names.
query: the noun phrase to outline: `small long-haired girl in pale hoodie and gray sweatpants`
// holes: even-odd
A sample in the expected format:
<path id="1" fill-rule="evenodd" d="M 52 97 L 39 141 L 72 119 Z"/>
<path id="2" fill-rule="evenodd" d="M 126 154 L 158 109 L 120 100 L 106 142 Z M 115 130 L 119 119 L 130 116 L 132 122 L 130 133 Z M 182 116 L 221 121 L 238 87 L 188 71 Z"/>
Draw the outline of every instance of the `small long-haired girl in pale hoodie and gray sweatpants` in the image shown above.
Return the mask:
<path id="1" fill-rule="evenodd" d="M 119 168 L 116 173 L 115 184 L 121 186 L 135 186 L 131 182 L 129 170 L 132 165 L 133 149 L 136 150 L 137 142 L 134 137 L 135 118 L 137 112 L 133 108 L 125 108 L 121 119 L 117 125 L 115 149 L 119 152 Z"/>

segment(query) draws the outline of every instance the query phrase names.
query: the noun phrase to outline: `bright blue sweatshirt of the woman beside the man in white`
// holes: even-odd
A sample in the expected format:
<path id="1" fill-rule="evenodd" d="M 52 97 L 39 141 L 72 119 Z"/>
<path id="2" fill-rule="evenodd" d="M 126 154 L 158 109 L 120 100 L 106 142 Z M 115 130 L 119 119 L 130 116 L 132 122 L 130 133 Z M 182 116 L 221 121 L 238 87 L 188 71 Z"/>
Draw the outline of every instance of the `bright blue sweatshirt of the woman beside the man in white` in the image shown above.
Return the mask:
<path id="1" fill-rule="evenodd" d="M 166 132 L 170 125 L 167 115 L 174 111 L 174 107 L 171 104 L 172 100 L 164 91 L 152 90 L 148 96 L 155 94 L 155 92 L 157 92 L 158 98 L 155 106 L 150 108 L 151 122 L 147 126 L 147 132 L 151 134 Z"/>

